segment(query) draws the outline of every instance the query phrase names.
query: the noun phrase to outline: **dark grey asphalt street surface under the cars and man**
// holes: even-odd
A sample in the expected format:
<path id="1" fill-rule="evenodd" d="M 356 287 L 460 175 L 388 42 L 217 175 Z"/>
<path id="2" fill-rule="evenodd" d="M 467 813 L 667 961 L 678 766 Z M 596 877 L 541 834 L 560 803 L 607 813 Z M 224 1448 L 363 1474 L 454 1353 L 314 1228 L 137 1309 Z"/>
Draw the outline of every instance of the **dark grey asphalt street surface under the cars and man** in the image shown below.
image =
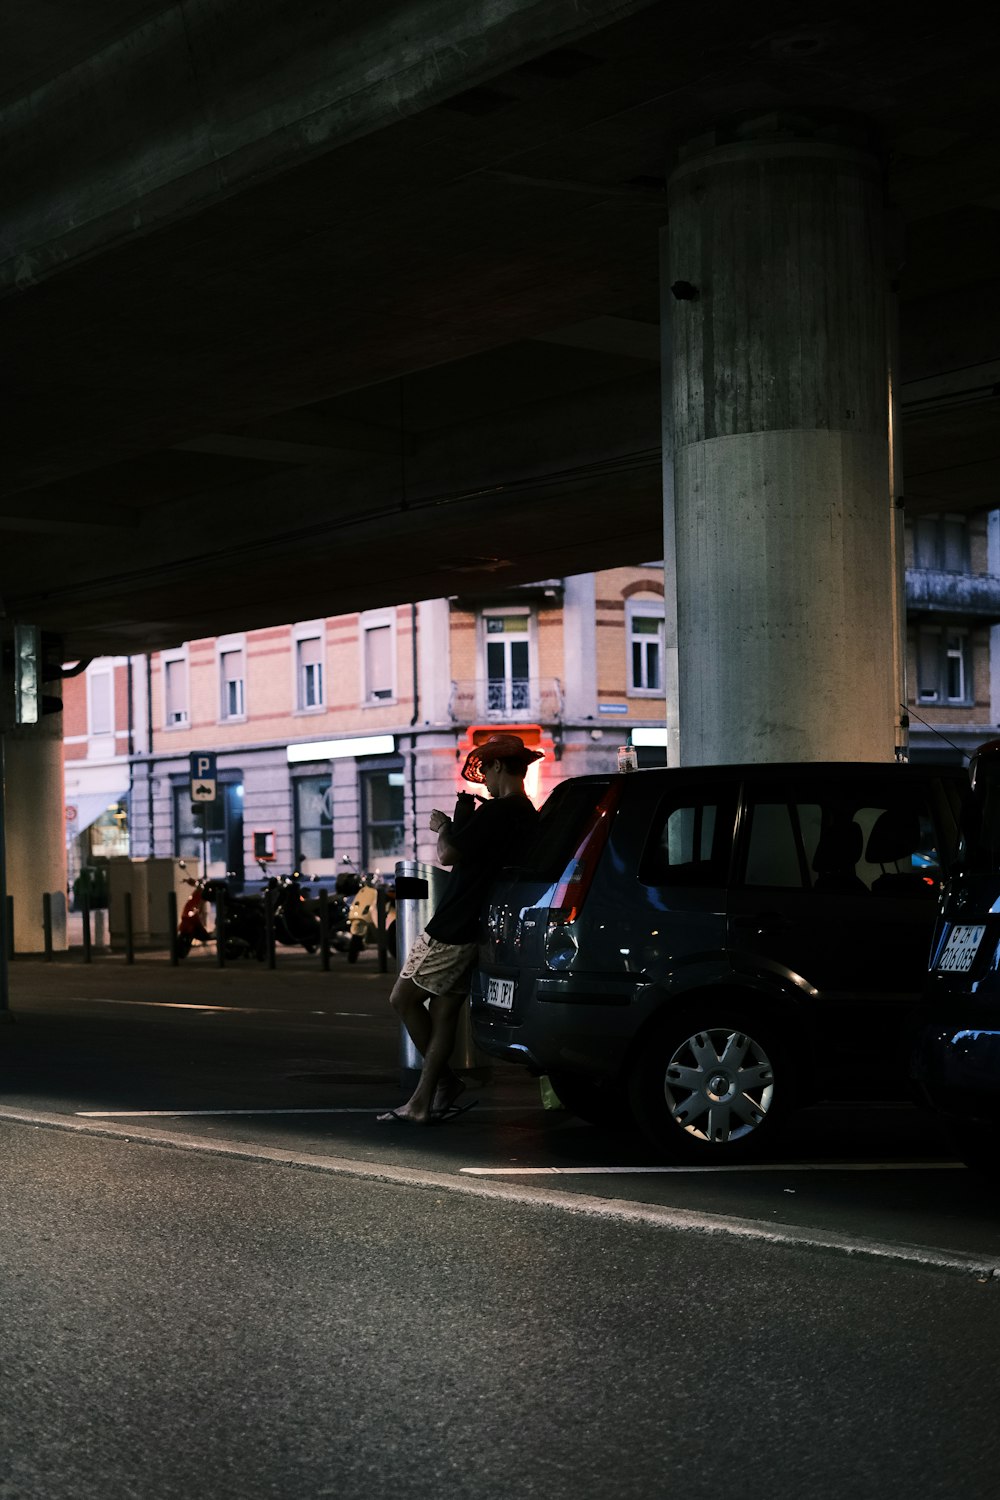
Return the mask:
<path id="1" fill-rule="evenodd" d="M 399 1102 L 391 976 L 16 960 L 0 1497 L 996 1496 L 1000 1210 L 909 1108 L 664 1172 L 514 1070 Z"/>

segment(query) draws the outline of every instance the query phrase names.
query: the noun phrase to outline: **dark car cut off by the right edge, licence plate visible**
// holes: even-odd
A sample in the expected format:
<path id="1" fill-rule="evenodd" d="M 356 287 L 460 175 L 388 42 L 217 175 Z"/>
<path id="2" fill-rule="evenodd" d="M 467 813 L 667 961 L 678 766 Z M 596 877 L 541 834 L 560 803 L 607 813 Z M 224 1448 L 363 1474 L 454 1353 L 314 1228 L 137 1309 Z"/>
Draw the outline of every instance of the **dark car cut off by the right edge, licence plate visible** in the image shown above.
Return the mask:
<path id="1" fill-rule="evenodd" d="M 970 777 L 912 1071 L 969 1166 L 1000 1176 L 1000 741 L 973 756 Z"/>

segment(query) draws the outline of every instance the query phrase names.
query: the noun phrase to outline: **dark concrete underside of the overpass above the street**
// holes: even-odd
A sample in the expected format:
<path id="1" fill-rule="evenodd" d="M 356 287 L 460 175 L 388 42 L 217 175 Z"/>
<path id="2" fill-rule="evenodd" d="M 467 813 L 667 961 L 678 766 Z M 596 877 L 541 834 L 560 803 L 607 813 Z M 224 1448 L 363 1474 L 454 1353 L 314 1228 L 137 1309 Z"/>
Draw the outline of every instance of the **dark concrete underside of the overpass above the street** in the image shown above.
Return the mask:
<path id="1" fill-rule="evenodd" d="M 996 8 L 36 0 L 0 52 L 0 592 L 69 656 L 661 555 L 679 146 L 862 120 L 907 504 L 1000 501 Z"/>

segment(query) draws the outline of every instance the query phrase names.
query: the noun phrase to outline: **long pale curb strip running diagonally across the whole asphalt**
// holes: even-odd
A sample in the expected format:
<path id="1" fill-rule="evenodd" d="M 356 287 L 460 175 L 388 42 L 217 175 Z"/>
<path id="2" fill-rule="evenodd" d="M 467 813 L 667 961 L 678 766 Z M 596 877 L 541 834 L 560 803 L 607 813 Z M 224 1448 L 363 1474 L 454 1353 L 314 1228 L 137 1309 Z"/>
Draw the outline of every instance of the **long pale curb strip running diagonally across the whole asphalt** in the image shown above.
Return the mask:
<path id="1" fill-rule="evenodd" d="M 519 1208 L 558 1209 L 564 1214 L 577 1214 L 582 1218 L 603 1218 L 622 1224 L 646 1226 L 649 1228 L 721 1234 L 795 1250 L 826 1250 L 841 1256 L 859 1256 L 868 1260 L 922 1266 L 930 1270 L 958 1270 L 964 1275 L 978 1275 L 981 1280 L 991 1280 L 1000 1284 L 1000 1264 L 996 1260 L 988 1256 L 967 1256 L 961 1251 L 940 1250 L 936 1245 L 894 1245 L 888 1240 L 838 1234 L 829 1230 L 801 1228 L 795 1224 L 768 1224 L 760 1220 L 729 1218 L 724 1214 L 700 1214 L 691 1209 L 664 1208 L 658 1203 L 628 1203 L 622 1198 L 595 1198 L 583 1192 L 556 1192 L 549 1188 L 484 1182 L 481 1178 L 460 1178 L 447 1172 L 424 1172 L 418 1167 L 382 1166 L 375 1161 L 352 1161 L 349 1156 L 312 1155 L 309 1152 L 285 1150 L 277 1146 L 261 1146 L 253 1142 L 193 1140 L 190 1136 L 178 1136 L 159 1130 L 144 1131 L 141 1126 L 136 1130 L 133 1125 L 96 1124 L 73 1119 L 69 1114 L 0 1108 L 0 1120 L 9 1120 L 13 1125 L 34 1125 L 46 1130 L 79 1132 L 82 1136 L 105 1136 L 127 1144 L 159 1146 L 166 1150 L 187 1150 L 207 1156 L 229 1156 L 243 1161 L 264 1161 L 274 1167 L 295 1167 L 303 1172 L 360 1178 L 370 1182 L 387 1182 L 393 1186 L 432 1188 L 436 1192 L 465 1194 L 466 1197 L 508 1203 Z"/>

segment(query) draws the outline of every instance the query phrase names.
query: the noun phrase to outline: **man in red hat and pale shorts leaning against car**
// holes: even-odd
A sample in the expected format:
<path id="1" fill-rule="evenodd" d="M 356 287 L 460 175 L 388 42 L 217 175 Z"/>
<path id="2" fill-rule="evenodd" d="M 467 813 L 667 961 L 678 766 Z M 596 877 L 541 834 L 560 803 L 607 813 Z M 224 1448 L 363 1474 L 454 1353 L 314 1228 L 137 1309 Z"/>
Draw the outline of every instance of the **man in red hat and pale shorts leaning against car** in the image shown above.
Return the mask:
<path id="1" fill-rule="evenodd" d="M 496 874 L 535 831 L 538 813 L 525 795 L 525 772 L 540 759 L 541 752 L 529 750 L 519 735 L 490 735 L 469 752 L 462 766 L 463 778 L 486 786 L 490 800 L 457 820 L 436 807 L 430 814 L 438 860 L 453 868 L 390 994 L 390 1005 L 424 1064 L 406 1104 L 379 1114 L 379 1120 L 436 1125 L 462 1113 L 456 1100 L 465 1084 L 451 1071 L 448 1058 L 469 992 L 480 914 Z"/>

